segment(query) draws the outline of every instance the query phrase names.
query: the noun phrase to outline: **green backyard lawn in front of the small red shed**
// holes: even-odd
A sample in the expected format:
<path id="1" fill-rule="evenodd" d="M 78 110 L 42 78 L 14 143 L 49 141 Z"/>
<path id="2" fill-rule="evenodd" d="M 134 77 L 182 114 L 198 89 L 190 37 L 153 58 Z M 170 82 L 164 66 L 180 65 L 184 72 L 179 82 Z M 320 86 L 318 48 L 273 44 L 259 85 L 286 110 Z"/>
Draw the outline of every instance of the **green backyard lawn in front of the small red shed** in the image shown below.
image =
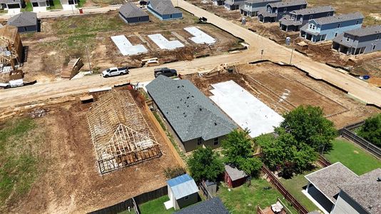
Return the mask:
<path id="1" fill-rule="evenodd" d="M 264 189 L 269 186 L 270 190 Z M 277 198 L 288 205 L 278 190 L 263 179 L 252 180 L 250 187 L 244 184 L 238 188 L 230 188 L 230 191 L 227 187 L 220 185 L 217 194 L 231 213 L 255 213 L 257 205 L 264 209 L 276 203 Z M 288 206 L 288 208 L 291 212 L 297 213 L 293 207 Z"/>

